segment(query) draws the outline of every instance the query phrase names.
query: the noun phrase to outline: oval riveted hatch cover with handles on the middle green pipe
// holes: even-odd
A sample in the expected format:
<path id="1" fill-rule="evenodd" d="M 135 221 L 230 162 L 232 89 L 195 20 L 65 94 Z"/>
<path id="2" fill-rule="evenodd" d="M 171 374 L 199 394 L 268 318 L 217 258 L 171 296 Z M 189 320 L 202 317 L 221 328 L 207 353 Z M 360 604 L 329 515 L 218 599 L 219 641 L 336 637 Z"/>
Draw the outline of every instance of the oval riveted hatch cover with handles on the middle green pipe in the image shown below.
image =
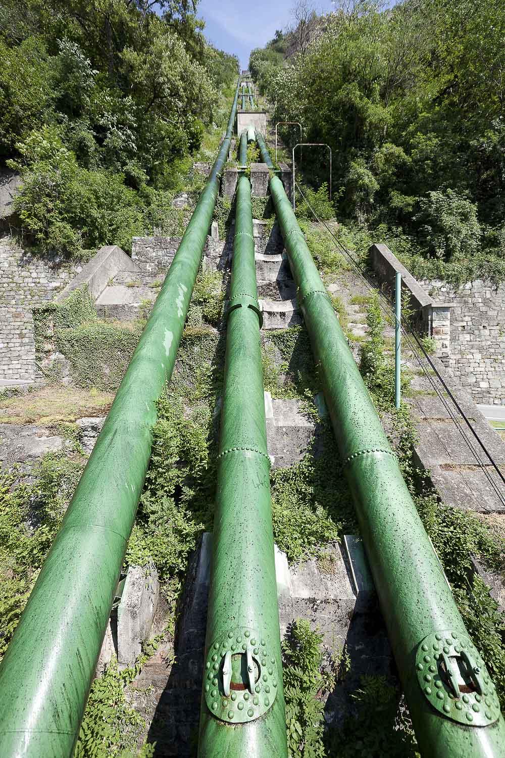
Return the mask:
<path id="1" fill-rule="evenodd" d="M 235 627 L 217 637 L 204 666 L 205 703 L 220 721 L 244 724 L 272 707 L 279 670 L 272 646 L 256 630 Z"/>

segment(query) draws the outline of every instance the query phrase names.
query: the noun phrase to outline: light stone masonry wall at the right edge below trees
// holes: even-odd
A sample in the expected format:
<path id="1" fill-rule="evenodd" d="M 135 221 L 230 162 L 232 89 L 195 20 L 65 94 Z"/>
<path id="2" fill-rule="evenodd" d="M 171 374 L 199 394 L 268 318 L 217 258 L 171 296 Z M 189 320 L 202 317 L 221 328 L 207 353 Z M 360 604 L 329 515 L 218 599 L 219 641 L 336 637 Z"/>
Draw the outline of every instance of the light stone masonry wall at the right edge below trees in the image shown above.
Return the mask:
<path id="1" fill-rule="evenodd" d="M 478 279 L 461 287 L 441 281 L 422 286 L 450 304 L 448 354 L 441 355 L 475 402 L 505 403 L 505 285 Z M 435 324 L 433 324 L 435 326 Z"/>

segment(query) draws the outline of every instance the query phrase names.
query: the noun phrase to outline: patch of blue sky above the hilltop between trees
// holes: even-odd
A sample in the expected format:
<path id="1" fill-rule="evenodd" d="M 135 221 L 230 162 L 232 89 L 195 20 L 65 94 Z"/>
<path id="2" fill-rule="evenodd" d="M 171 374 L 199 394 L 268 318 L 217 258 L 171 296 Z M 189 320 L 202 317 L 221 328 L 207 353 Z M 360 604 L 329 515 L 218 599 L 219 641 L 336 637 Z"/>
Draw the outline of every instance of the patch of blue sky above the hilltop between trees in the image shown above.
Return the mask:
<path id="1" fill-rule="evenodd" d="M 241 68 L 247 68 L 249 53 L 272 39 L 276 29 L 290 21 L 294 0 L 200 0 L 198 17 L 205 20 L 204 34 L 217 48 L 235 53 Z M 317 3 L 320 11 L 332 9 L 332 3 Z"/>

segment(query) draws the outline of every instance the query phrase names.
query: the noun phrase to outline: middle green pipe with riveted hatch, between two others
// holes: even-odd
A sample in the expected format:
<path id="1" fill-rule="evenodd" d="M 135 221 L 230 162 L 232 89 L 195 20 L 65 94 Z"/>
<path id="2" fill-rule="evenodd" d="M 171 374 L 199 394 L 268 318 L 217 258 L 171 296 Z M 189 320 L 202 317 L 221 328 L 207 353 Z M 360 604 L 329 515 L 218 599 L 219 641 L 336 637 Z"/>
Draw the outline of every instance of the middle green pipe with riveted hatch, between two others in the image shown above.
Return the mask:
<path id="1" fill-rule="evenodd" d="M 199 758 L 284 758 L 251 186 L 238 180 Z"/>

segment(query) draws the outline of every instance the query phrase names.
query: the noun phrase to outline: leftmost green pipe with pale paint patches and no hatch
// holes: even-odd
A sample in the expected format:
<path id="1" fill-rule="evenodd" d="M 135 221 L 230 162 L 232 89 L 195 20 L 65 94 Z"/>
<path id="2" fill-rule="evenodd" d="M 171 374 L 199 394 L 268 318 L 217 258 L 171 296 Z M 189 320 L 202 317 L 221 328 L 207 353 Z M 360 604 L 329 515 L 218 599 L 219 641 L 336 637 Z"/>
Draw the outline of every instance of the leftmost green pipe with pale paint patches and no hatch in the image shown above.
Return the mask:
<path id="1" fill-rule="evenodd" d="M 0 756 L 71 756 L 226 163 L 195 212 L 0 667 Z"/>

